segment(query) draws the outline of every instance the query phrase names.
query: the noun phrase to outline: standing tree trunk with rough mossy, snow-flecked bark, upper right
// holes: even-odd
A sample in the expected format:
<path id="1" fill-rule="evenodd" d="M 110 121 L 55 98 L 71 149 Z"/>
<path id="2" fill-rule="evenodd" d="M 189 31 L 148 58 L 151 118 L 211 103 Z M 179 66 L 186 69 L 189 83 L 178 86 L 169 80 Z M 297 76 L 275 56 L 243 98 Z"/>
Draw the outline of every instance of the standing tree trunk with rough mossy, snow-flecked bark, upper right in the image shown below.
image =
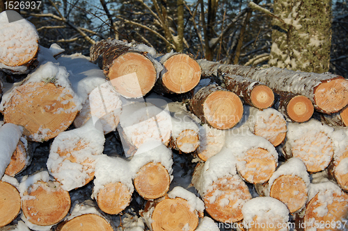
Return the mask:
<path id="1" fill-rule="evenodd" d="M 276 0 L 269 65 L 291 70 L 329 71 L 330 0 Z"/>

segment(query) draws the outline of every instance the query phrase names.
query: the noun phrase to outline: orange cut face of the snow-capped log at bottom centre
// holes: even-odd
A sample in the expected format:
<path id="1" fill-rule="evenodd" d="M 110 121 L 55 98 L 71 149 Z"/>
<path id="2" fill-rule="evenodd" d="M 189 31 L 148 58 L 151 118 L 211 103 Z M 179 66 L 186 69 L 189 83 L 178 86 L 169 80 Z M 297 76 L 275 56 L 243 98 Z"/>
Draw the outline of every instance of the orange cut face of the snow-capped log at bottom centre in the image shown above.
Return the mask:
<path id="1" fill-rule="evenodd" d="M 198 215 L 190 211 L 189 203 L 182 198 L 161 200 L 151 219 L 153 231 L 193 231 L 198 226 Z"/>

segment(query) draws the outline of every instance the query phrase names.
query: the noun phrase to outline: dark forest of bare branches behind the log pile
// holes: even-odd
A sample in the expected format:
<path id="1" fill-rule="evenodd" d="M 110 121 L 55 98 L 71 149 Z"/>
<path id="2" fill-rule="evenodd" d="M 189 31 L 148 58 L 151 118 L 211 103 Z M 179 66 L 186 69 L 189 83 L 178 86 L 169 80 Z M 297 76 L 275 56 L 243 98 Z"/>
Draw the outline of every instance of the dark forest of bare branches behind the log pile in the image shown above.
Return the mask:
<path id="1" fill-rule="evenodd" d="M 113 37 L 145 43 L 161 53 L 174 49 L 226 64 L 266 65 L 274 18 L 251 9 L 249 2 L 43 0 L 39 9 L 20 13 L 35 24 L 42 46 L 56 42 L 67 54 L 89 55 L 91 44 Z M 273 1 L 253 2 L 273 12 Z M 347 77 L 347 1 L 332 1 L 331 12 L 329 71 Z"/>

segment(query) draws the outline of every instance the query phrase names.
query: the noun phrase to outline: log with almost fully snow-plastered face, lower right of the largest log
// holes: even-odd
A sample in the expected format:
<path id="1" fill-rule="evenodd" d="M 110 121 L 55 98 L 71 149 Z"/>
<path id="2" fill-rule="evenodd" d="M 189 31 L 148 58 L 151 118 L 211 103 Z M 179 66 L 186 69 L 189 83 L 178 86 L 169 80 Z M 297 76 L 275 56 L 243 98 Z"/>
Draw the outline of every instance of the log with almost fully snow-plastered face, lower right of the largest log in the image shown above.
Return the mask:
<path id="1" fill-rule="evenodd" d="M 93 180 L 96 159 L 102 154 L 104 142 L 101 124 L 94 125 L 92 119 L 81 128 L 61 132 L 49 151 L 49 173 L 67 191 L 88 184 Z"/>

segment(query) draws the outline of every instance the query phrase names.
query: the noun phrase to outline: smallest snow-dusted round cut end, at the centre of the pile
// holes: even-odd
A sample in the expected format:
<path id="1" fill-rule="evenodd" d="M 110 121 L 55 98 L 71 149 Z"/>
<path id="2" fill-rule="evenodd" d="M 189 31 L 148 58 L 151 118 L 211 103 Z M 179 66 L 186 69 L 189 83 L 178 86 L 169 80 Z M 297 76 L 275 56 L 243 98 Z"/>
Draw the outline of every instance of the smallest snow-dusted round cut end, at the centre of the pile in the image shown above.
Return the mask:
<path id="1" fill-rule="evenodd" d="M 175 139 L 175 146 L 183 153 L 192 153 L 199 144 L 198 132 L 191 129 L 183 130 Z"/>

